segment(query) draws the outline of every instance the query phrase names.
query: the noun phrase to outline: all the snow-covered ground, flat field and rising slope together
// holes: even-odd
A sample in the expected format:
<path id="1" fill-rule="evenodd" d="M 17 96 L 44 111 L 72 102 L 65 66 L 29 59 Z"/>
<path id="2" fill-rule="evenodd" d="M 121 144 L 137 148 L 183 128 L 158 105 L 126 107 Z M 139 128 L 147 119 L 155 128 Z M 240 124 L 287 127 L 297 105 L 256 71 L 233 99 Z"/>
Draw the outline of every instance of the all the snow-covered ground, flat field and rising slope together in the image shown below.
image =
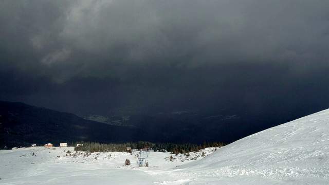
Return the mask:
<path id="1" fill-rule="evenodd" d="M 253 134 L 214 151 L 151 152 L 149 167 L 129 153 L 43 147 L 0 151 L 2 184 L 328 184 L 329 109 Z M 65 150 L 65 151 L 64 151 Z M 170 156 L 173 156 L 170 159 Z M 199 157 L 197 157 L 199 156 Z M 192 159 L 192 158 L 194 158 Z M 131 161 L 124 166 L 125 159 Z"/>

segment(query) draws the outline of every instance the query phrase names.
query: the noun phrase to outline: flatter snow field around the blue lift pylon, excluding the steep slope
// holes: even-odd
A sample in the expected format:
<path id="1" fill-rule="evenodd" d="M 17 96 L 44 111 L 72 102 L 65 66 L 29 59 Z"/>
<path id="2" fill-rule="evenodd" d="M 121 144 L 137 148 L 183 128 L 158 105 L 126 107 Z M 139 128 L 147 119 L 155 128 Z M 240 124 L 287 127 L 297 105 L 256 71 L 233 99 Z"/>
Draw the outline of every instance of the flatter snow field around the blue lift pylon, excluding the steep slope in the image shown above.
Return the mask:
<path id="1" fill-rule="evenodd" d="M 205 156 L 214 150 L 214 148 L 205 149 Z M 137 153 L 139 152 L 134 152 L 133 155 L 126 152 L 89 153 L 74 151 L 74 147 L 30 147 L 2 150 L 0 151 L 0 161 L 5 168 L 0 169 L 3 179 L 1 182 L 3 184 L 85 184 L 92 180 L 93 183 L 108 184 L 107 180 L 111 179 L 115 184 L 138 184 L 138 180 L 134 177 L 127 178 L 123 174 L 147 177 L 147 179 L 156 181 L 157 179 L 152 175 L 159 174 L 167 168 L 176 168 L 182 164 L 182 161 L 188 163 L 202 158 L 201 151 L 191 152 L 190 157 L 184 156 L 184 154 L 175 156 L 168 152 L 150 152 L 149 157 L 145 153 L 141 155 L 142 158 L 147 159 L 149 167 L 145 167 L 145 164 L 143 167 L 139 167 Z M 169 159 L 170 156 L 173 156 L 172 160 Z M 125 159 L 131 161 L 130 166 L 124 165 Z M 150 182 L 140 181 L 140 184 L 145 183 Z"/>

